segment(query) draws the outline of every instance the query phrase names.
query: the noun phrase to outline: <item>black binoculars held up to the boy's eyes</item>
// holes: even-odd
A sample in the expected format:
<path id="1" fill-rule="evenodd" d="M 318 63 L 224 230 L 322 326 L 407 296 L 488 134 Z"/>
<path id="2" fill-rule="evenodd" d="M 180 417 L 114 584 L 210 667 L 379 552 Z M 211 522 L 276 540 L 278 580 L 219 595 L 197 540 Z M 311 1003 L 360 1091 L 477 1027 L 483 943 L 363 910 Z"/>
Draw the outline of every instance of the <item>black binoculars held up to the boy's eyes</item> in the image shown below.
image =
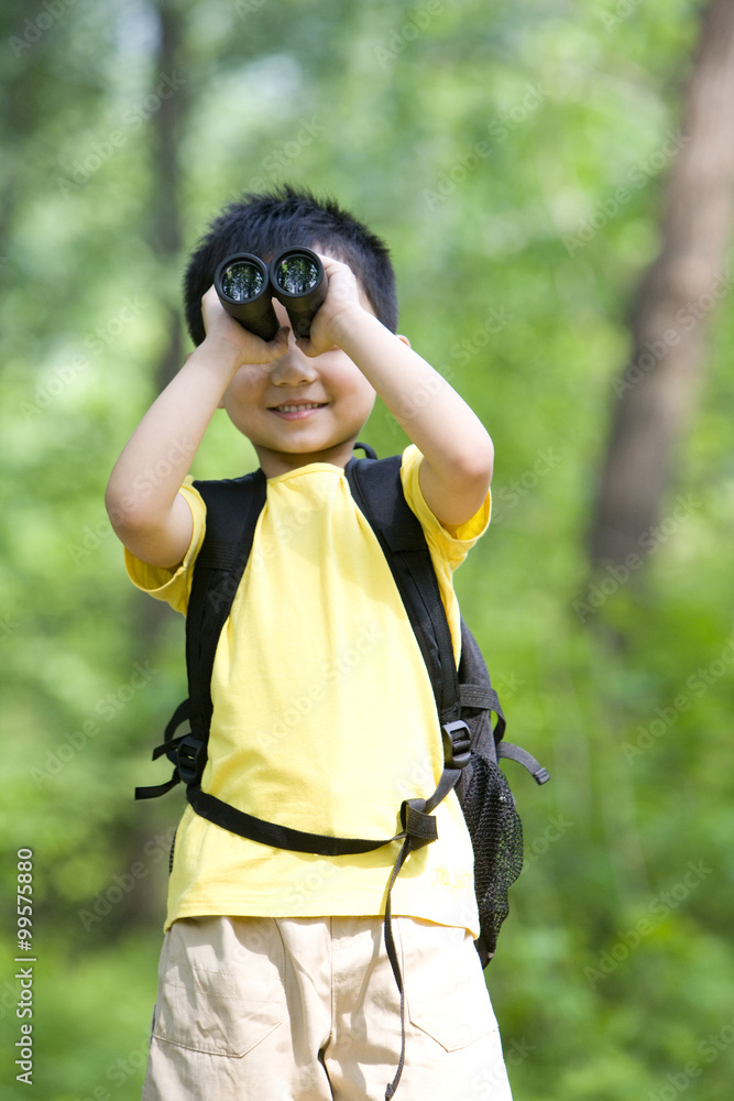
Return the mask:
<path id="1" fill-rule="evenodd" d="M 263 340 L 272 340 L 281 327 L 274 297 L 287 309 L 295 335 L 307 337 L 327 286 L 324 264 L 315 252 L 302 248 L 285 249 L 270 264 L 250 252 L 237 252 L 215 273 L 215 288 L 227 313 Z"/>

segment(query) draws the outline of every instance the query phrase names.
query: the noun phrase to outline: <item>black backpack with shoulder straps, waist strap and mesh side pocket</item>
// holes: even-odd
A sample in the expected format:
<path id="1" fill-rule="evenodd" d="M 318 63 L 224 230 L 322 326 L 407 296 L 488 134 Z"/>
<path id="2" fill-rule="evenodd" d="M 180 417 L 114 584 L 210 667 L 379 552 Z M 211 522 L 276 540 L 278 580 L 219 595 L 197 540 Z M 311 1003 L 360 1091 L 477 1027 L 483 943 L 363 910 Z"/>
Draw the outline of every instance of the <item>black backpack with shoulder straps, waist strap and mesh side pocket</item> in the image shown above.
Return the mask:
<path id="1" fill-rule="evenodd" d="M 154 798 L 179 782 L 194 810 L 224 829 L 281 849 L 321 855 L 365 852 L 394 841 L 402 846 L 393 868 L 385 906 L 385 945 L 401 992 L 403 983 L 391 927 L 391 892 L 412 851 L 437 838 L 432 810 L 456 787 L 474 851 L 474 890 L 480 935 L 474 941 L 486 967 L 494 955 L 500 927 L 507 916 L 507 891 L 523 864 L 523 830 L 515 799 L 500 757 L 523 764 L 538 784 L 548 773 L 525 750 L 504 741 L 505 718 L 492 688 L 481 651 L 461 620 L 461 661 L 457 669 L 451 633 L 420 522 L 407 504 L 401 481 L 399 455 L 377 460 L 352 458 L 346 468 L 352 497 L 373 528 L 393 574 L 430 678 L 443 742 L 445 767 L 428 798 L 405 799 L 402 831 L 392 838 L 336 838 L 291 829 L 247 815 L 201 791 L 211 722 L 211 671 L 220 632 L 244 573 L 255 524 L 265 503 L 262 470 L 243 478 L 195 481 L 207 506 L 204 543 L 197 556 L 186 615 L 186 665 L 189 698 L 174 711 L 153 760 L 166 755 L 174 764 L 171 780 L 139 787 L 135 798 Z M 496 722 L 492 726 L 492 715 Z M 184 722 L 189 730 L 176 731 Z M 174 839 L 175 844 L 175 839 Z M 172 848 L 173 862 L 173 848 Z M 393 1082 L 392 1097 L 399 1073 Z M 391 1088 L 388 1088 L 390 1090 Z"/>

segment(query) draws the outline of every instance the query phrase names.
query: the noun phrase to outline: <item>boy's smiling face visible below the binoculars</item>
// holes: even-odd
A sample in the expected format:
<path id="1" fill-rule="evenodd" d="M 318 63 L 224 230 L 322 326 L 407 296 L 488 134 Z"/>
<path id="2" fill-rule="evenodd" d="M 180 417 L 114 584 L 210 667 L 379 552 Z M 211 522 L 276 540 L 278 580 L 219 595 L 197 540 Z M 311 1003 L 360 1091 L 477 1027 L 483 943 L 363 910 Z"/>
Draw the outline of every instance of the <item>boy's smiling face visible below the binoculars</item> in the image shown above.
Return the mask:
<path id="1" fill-rule="evenodd" d="M 285 307 L 273 305 L 281 324 L 288 325 Z M 309 462 L 344 467 L 374 399 L 344 351 L 335 347 L 310 358 L 291 333 L 285 356 L 239 369 L 221 405 L 253 444 L 265 476 L 274 478 Z"/>

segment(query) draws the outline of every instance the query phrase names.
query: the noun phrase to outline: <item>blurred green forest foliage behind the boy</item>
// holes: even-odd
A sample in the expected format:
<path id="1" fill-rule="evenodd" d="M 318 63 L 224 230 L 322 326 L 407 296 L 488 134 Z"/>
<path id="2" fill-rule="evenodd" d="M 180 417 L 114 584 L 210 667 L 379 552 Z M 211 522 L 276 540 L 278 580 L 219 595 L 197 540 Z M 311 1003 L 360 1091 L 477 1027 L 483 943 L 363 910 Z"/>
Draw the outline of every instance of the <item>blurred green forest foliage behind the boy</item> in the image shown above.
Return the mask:
<path id="1" fill-rule="evenodd" d="M 528 863 L 487 970 L 516 1101 L 689 1086 L 730 1101 L 727 298 L 643 568 L 592 577 L 585 555 L 701 4 L 166 7 L 182 30 L 168 70 L 152 0 L 0 14 L 3 1097 L 28 1095 L 13 1067 L 21 847 L 35 1095 L 140 1095 L 180 797 L 135 805 L 132 789 L 155 782 L 149 751 L 184 694 L 183 623 L 127 582 L 102 495 L 154 396 L 185 250 L 241 190 L 289 179 L 391 242 L 402 330 L 495 440 L 495 523 L 457 587 L 511 740 L 552 774 L 543 789 L 515 775 Z M 163 196 L 156 88 L 186 102 Z M 168 203 L 175 257 L 158 240 Z M 405 443 L 380 411 L 365 436 L 383 455 Z M 217 419 L 195 472 L 251 462 Z"/>

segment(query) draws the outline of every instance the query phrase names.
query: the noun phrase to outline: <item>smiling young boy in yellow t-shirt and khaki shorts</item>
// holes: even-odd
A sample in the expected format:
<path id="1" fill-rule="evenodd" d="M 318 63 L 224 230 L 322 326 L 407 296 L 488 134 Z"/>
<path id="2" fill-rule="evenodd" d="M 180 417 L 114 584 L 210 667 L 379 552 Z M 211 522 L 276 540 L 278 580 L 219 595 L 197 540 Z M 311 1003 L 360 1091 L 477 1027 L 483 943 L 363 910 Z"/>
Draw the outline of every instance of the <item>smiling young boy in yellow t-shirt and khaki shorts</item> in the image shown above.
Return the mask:
<path id="1" fill-rule="evenodd" d="M 320 255 L 328 292 L 307 338 L 294 338 L 274 301 L 282 327 L 266 342 L 224 312 L 213 273 L 232 253 L 269 262 L 289 246 Z M 458 659 L 451 576 L 489 522 L 492 442 L 395 335 L 387 250 L 330 200 L 284 188 L 230 206 L 191 257 L 186 316 L 196 350 L 122 451 L 107 504 L 134 584 L 185 613 L 206 527 L 187 475 L 217 407 L 267 479 L 217 650 L 201 787 L 299 830 L 393 837 L 402 800 L 434 793 L 443 750 L 413 629 L 344 467 L 376 393 L 413 442 L 403 491 L 426 534 Z M 454 793 L 436 818 L 438 840 L 408 857 L 392 893 L 405 986 L 398 1088 L 405 1101 L 507 1101 Z M 143 1098 L 391 1095 L 403 1039 L 383 942 L 395 857 L 396 844 L 347 857 L 271 848 L 187 807 Z"/>

